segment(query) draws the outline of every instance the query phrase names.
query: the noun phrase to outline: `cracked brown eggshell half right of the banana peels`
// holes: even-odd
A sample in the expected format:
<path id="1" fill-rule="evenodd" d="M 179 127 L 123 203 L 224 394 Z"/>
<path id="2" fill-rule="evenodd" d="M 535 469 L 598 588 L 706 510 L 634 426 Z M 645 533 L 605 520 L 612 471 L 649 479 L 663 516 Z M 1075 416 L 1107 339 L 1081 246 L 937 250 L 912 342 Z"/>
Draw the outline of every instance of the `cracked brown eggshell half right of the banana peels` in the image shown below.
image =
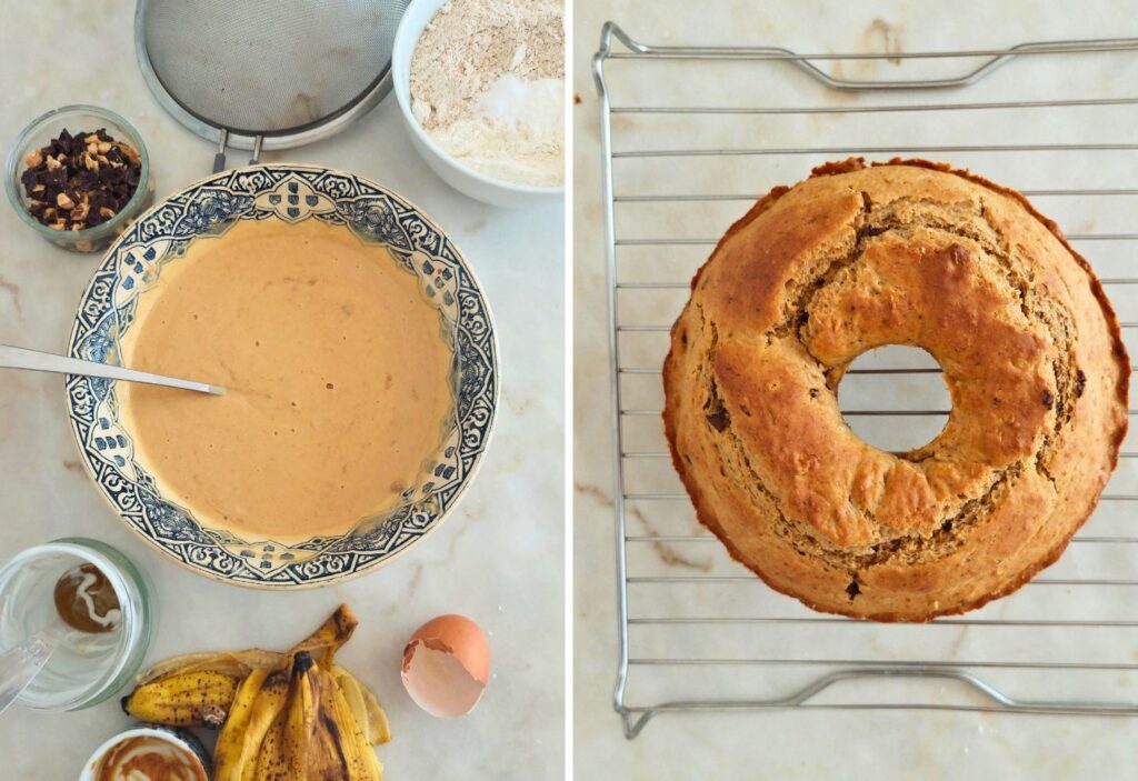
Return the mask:
<path id="1" fill-rule="evenodd" d="M 443 615 L 415 630 L 403 649 L 403 687 L 439 718 L 470 713 L 490 678 L 490 645 L 470 618 Z"/>

